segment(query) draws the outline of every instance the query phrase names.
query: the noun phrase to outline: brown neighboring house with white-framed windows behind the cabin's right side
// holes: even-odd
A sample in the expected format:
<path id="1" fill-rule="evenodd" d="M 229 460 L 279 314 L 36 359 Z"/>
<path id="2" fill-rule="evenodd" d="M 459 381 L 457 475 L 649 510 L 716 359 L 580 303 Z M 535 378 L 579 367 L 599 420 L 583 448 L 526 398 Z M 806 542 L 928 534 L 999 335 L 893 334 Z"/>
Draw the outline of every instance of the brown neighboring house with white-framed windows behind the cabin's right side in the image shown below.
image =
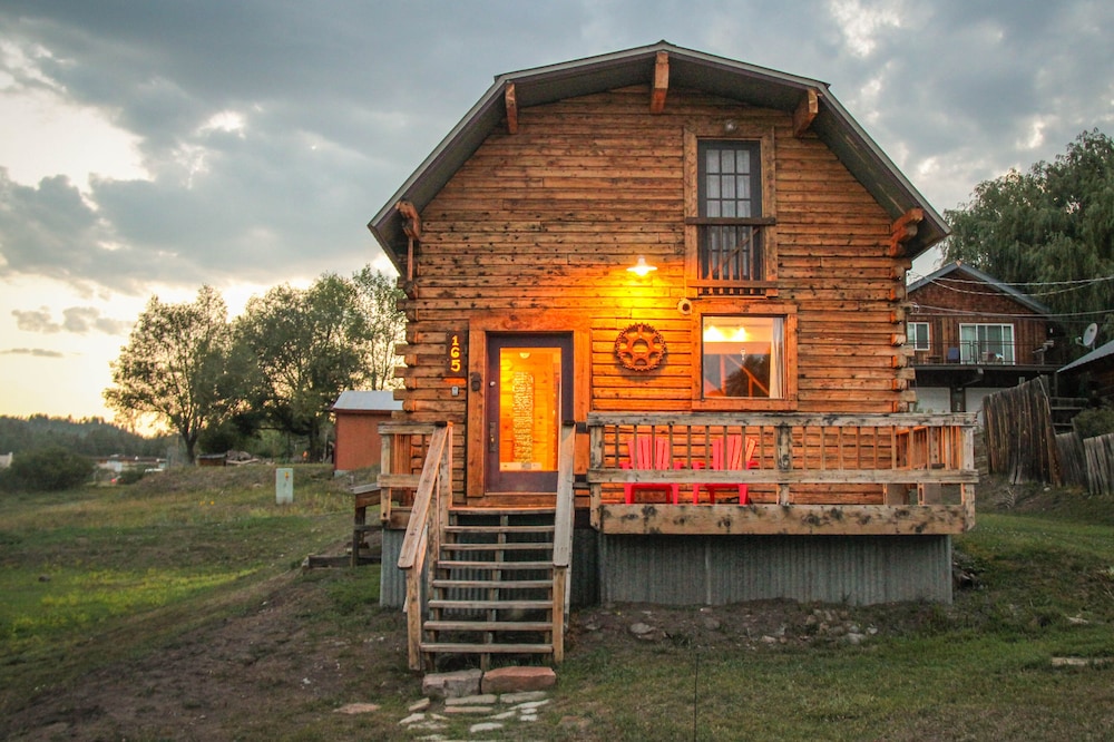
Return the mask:
<path id="1" fill-rule="evenodd" d="M 988 394 L 1053 377 L 1066 357 L 1052 310 L 969 265 L 911 283 L 908 301 L 919 411 L 980 412 Z"/>

